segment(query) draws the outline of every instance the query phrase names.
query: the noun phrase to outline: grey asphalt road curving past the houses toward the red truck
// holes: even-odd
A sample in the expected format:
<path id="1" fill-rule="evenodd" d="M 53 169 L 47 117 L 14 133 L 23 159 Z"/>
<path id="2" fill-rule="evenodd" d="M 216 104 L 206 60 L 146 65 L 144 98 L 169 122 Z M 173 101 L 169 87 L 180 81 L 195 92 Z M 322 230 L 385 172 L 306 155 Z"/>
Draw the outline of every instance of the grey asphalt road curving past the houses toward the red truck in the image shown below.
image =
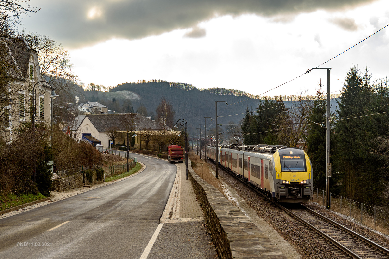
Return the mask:
<path id="1" fill-rule="evenodd" d="M 0 219 L 0 258 L 139 258 L 159 224 L 177 167 L 136 157 L 146 165 L 136 176 Z"/>

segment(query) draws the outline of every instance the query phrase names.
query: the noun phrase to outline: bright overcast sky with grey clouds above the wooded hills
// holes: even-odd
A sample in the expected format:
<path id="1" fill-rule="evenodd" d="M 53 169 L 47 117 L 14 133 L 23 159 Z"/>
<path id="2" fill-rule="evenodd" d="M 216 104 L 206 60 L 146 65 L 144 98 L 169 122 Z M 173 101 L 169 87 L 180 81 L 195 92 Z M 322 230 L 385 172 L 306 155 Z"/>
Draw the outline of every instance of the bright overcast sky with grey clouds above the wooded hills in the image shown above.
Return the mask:
<path id="1" fill-rule="evenodd" d="M 80 81 L 107 87 L 162 79 L 258 95 L 318 66 L 389 24 L 387 0 L 32 0 L 26 31 L 70 50 Z M 389 75 L 389 26 L 333 59 L 331 92 L 351 65 Z M 312 71 L 264 95 L 292 95 Z M 339 79 L 339 80 L 338 80 Z"/>

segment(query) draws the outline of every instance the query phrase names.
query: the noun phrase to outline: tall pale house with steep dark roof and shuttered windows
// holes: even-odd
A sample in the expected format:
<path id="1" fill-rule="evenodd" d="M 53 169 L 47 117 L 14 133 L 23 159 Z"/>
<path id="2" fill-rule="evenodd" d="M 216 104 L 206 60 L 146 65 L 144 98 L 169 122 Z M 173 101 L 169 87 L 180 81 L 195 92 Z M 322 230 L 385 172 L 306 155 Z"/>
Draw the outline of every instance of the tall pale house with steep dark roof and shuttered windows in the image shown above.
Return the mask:
<path id="1" fill-rule="evenodd" d="M 50 96 L 53 90 L 40 75 L 37 51 L 25 40 L 2 41 L 8 49 L 11 67 L 7 67 L 8 84 L 0 94 L 2 133 L 12 139 L 12 127 L 19 127 L 34 117 L 35 123 L 50 123 Z"/>

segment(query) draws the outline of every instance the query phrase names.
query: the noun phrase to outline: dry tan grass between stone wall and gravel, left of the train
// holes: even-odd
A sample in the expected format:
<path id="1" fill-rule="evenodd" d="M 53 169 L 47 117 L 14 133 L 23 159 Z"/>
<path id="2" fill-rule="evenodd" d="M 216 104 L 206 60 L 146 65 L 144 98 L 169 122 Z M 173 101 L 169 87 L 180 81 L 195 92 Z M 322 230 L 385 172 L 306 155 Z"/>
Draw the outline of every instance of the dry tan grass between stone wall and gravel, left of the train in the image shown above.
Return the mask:
<path id="1" fill-rule="evenodd" d="M 205 163 L 204 160 L 200 159 L 200 156 L 195 153 L 189 153 L 188 157 L 191 160 L 192 169 L 196 172 L 196 174 L 224 194 L 221 180 L 216 179 L 216 175 L 212 171 L 211 166 L 208 163 Z"/>

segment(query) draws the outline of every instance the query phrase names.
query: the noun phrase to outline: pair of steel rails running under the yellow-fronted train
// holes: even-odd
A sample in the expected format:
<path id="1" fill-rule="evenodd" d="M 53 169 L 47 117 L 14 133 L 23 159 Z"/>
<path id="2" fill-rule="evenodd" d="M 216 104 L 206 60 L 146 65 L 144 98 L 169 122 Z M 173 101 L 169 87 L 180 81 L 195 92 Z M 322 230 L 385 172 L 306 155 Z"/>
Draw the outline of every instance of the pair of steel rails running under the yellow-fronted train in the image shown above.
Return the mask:
<path id="1" fill-rule="evenodd" d="M 209 158 L 209 160 L 211 160 L 212 162 L 216 163 L 214 160 L 212 160 L 212 158 Z M 228 172 L 228 171 L 227 171 Z M 230 172 L 228 172 L 230 173 Z M 242 181 L 242 179 L 240 177 L 237 177 L 235 174 L 232 174 L 230 173 L 230 175 L 234 176 L 235 178 L 239 179 L 240 181 Z M 348 254 L 350 257 L 354 258 L 354 259 L 363 259 L 362 257 L 358 256 L 357 254 L 355 254 L 354 252 L 352 252 L 350 249 L 348 249 L 347 247 L 345 247 L 344 245 L 342 245 L 341 243 L 337 242 L 335 239 L 331 238 L 331 236 L 327 235 L 326 233 L 322 232 L 320 229 L 317 229 L 315 226 L 313 226 L 312 224 L 310 224 L 309 222 L 305 221 L 305 219 L 301 218 L 300 216 L 294 214 L 293 212 L 291 212 L 290 210 L 286 209 L 284 206 L 280 205 L 278 202 L 274 202 L 273 200 L 270 200 L 268 198 L 268 196 L 263 193 L 262 191 L 260 191 L 259 189 L 255 188 L 255 186 L 251 186 L 251 185 L 248 185 L 251 189 L 255 190 L 257 193 L 261 194 L 262 196 L 264 196 L 267 200 L 269 200 L 270 202 L 274 203 L 275 205 L 277 205 L 278 207 L 280 207 L 280 209 L 284 210 L 285 212 L 287 212 L 288 214 L 290 214 L 291 216 L 293 216 L 294 218 L 296 218 L 298 221 L 300 221 L 301 223 L 303 223 L 305 226 L 307 226 L 308 228 L 312 229 L 313 231 L 315 231 L 317 234 L 319 234 L 320 236 L 322 236 L 323 238 L 325 238 L 326 240 L 328 240 L 330 243 L 332 243 L 333 245 L 335 245 L 336 247 L 338 247 L 338 249 L 342 250 L 343 252 L 345 252 L 346 254 Z M 320 217 L 324 220 L 326 220 L 327 222 L 335 225 L 336 227 L 342 229 L 343 231 L 349 233 L 350 235 L 353 235 L 355 236 L 356 238 L 362 240 L 363 242 L 366 242 L 368 243 L 369 245 L 371 245 L 372 247 L 376 248 L 377 250 L 383 252 L 384 254 L 387 254 L 389 255 L 389 250 L 385 249 L 384 247 L 378 245 L 377 243 L 371 241 L 370 239 L 368 238 L 365 238 L 364 236 L 361 236 L 359 235 L 358 233 L 352 231 L 351 229 L 349 228 L 346 228 L 345 226 L 342 226 L 341 224 L 339 224 L 338 222 L 335 222 L 323 215 L 321 215 L 320 213 L 318 212 L 315 212 L 314 210 L 312 209 L 309 209 L 307 207 L 305 207 L 304 205 L 301 205 L 303 206 L 303 208 L 305 210 L 308 210 L 309 212 L 313 213 L 315 216 L 317 217 Z"/>

